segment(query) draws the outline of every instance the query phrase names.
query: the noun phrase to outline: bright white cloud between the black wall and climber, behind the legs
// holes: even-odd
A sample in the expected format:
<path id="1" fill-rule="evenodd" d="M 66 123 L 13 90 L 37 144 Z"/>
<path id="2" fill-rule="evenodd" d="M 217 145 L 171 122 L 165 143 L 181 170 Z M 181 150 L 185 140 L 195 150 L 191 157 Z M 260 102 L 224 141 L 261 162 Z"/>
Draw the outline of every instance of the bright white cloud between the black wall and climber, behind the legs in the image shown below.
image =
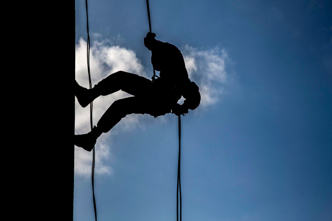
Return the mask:
<path id="1" fill-rule="evenodd" d="M 137 59 L 135 52 L 119 46 L 107 46 L 106 43 L 106 41 L 94 42 L 90 48 L 90 73 L 93 85 L 119 70 L 146 76 L 143 71 L 143 66 Z M 75 79 L 81 86 L 88 88 L 89 79 L 87 73 L 86 47 L 87 43 L 83 39 L 80 39 L 79 43 L 76 45 Z M 118 91 L 108 96 L 98 97 L 93 102 L 93 124 L 97 124 L 100 117 L 114 101 L 130 96 L 131 95 L 128 95 L 125 92 Z M 118 128 L 123 130 L 135 128 L 141 117 L 142 116 L 139 114 L 126 116 L 124 120 L 119 123 Z M 75 134 L 88 133 L 89 131 L 90 108 L 89 106 L 82 108 L 76 100 Z M 108 137 L 109 135 L 102 134 L 95 145 L 95 173 L 97 174 L 112 173 L 110 166 L 105 165 L 102 161 L 103 159 L 108 159 L 110 157 L 109 143 L 107 143 Z M 91 165 L 92 152 L 87 152 L 82 148 L 75 147 L 75 174 L 90 176 Z"/>

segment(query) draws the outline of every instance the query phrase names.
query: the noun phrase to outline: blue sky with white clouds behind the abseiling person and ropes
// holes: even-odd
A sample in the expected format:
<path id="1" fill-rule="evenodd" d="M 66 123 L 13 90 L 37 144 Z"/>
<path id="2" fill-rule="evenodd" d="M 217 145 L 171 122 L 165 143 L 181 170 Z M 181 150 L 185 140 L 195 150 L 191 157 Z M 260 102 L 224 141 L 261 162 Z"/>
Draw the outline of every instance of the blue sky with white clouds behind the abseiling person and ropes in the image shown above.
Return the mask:
<path id="1" fill-rule="evenodd" d="M 76 79 L 88 87 L 85 1 Z M 331 1 L 150 0 L 152 31 L 204 95 L 182 117 L 182 219 L 332 219 Z M 145 1 L 89 1 L 92 84 L 152 76 Z M 116 93 L 94 102 L 94 124 Z M 77 102 L 76 102 L 77 103 Z M 75 133 L 89 110 L 75 109 Z M 98 220 L 176 220 L 177 117 L 130 115 L 96 144 Z M 74 220 L 94 220 L 92 154 L 75 147 Z"/>

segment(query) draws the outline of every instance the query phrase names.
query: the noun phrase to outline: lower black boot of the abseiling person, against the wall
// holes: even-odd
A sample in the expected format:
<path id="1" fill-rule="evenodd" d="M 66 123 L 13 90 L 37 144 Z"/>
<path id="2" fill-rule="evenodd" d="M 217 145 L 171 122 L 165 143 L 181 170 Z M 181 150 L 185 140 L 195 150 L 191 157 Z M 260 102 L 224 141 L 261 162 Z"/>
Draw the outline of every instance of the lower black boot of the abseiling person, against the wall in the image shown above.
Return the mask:
<path id="1" fill-rule="evenodd" d="M 86 134 L 75 135 L 74 144 L 75 146 L 82 147 L 84 150 L 91 151 L 93 146 L 96 144 L 97 138 L 102 134 L 99 129 L 94 126 L 92 131 Z"/>

